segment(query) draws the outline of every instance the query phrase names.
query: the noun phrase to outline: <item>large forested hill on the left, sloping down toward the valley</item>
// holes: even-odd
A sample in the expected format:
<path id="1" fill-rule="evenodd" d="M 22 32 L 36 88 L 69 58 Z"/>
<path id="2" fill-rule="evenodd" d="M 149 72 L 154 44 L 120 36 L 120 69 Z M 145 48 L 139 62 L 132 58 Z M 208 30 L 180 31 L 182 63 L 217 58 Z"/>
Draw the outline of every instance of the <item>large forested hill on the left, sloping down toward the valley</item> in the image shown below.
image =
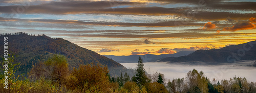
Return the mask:
<path id="1" fill-rule="evenodd" d="M 45 61 L 49 55 L 66 55 L 70 68 L 79 67 L 81 64 L 101 64 L 111 68 L 125 69 L 116 61 L 102 56 L 92 50 L 82 48 L 61 38 L 50 38 L 46 35 L 28 35 L 26 33 L 15 33 L 0 36 L 0 47 L 4 48 L 4 37 L 8 37 L 9 51 L 17 56 L 16 63 L 20 63 L 19 71 L 26 73 L 32 65 L 39 61 Z M 3 57 L 4 51 L 0 51 Z"/>

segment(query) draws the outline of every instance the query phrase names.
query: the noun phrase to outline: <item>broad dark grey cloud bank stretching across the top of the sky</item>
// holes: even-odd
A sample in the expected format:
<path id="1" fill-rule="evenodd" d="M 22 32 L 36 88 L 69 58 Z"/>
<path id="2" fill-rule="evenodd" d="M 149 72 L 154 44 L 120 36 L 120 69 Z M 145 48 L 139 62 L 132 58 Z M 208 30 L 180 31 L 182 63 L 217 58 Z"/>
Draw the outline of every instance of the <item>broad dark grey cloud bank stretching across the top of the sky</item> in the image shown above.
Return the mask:
<path id="1" fill-rule="evenodd" d="M 165 0 L 164 0 L 165 1 Z M 173 3 L 187 3 L 198 4 L 198 1 L 169 1 Z M 117 1 L 101 1 L 101 2 L 89 2 L 89 1 L 62 1 L 51 2 L 48 4 L 25 6 L 23 13 L 26 14 L 115 14 L 115 15 L 178 15 L 182 17 L 188 17 L 183 15 L 194 14 L 193 19 L 198 20 L 225 20 L 227 17 L 232 19 L 247 19 L 256 15 L 256 13 L 231 13 L 230 10 L 252 10 L 256 11 L 256 7 L 253 7 L 255 2 L 228 2 L 221 1 L 205 1 L 206 7 L 201 9 L 220 9 L 223 12 L 217 11 L 194 11 L 197 8 L 184 7 L 184 8 L 163 8 L 163 7 L 145 7 L 145 3 L 134 2 L 117 2 Z M 127 7 L 127 8 L 115 8 L 116 6 L 139 6 L 139 7 Z M 19 6 L 0 6 L 0 13 L 13 13 L 12 9 L 16 10 Z M 194 12 L 193 12 L 194 11 Z"/>

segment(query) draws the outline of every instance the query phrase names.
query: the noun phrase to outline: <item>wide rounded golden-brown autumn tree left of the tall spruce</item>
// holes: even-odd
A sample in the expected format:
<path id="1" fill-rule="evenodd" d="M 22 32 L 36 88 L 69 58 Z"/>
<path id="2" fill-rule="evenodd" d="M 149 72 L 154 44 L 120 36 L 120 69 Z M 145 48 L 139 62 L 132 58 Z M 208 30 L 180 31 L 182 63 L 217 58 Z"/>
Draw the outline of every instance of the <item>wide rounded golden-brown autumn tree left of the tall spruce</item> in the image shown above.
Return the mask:
<path id="1" fill-rule="evenodd" d="M 88 92 L 111 92 L 108 68 L 97 64 L 80 65 L 71 73 L 77 89 Z"/>

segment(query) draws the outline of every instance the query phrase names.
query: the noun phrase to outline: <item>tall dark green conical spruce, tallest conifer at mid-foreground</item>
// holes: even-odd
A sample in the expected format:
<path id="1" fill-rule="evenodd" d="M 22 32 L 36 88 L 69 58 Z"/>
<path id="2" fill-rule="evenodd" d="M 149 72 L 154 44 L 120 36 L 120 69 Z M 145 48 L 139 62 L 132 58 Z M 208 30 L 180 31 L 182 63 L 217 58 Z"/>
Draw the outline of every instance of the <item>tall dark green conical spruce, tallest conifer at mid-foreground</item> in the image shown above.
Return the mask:
<path id="1" fill-rule="evenodd" d="M 145 85 L 149 81 L 148 77 L 146 76 L 146 71 L 143 67 L 144 67 L 143 60 L 141 57 L 139 57 L 139 61 L 136 69 L 135 81 L 140 88 L 142 85 Z"/>

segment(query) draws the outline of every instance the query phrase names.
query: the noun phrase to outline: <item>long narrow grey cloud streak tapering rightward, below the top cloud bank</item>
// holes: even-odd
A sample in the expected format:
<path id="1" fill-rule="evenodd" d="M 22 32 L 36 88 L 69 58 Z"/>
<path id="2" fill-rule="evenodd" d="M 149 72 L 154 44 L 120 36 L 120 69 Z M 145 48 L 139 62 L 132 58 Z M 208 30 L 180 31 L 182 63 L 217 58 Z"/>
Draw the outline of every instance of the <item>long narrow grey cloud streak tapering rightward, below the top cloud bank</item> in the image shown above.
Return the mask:
<path id="1" fill-rule="evenodd" d="M 44 23 L 44 24 L 73 24 L 73 25 L 100 25 L 100 26 L 142 26 L 142 27 L 174 27 L 174 26 L 195 26 L 202 25 L 203 23 L 194 23 L 194 21 L 164 21 L 157 23 L 132 23 L 132 22 L 84 22 L 76 20 L 54 20 L 54 19 L 17 19 L 17 18 L 3 18 L 0 17 L 0 21 L 21 21 L 27 23 Z M 185 24 L 181 24 L 185 23 Z M 15 24 L 15 23 L 14 23 Z M 31 25 L 33 26 L 33 25 Z"/>

